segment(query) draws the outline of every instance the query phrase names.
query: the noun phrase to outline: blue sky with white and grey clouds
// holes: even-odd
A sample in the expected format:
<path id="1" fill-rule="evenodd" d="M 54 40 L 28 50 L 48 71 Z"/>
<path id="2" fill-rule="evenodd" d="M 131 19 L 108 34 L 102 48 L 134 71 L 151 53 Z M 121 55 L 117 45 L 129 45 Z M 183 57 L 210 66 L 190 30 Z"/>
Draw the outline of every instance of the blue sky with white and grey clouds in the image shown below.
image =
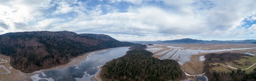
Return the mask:
<path id="1" fill-rule="evenodd" d="M 256 39 L 256 0 L 0 0 L 0 34 L 73 31 L 120 41 Z"/>

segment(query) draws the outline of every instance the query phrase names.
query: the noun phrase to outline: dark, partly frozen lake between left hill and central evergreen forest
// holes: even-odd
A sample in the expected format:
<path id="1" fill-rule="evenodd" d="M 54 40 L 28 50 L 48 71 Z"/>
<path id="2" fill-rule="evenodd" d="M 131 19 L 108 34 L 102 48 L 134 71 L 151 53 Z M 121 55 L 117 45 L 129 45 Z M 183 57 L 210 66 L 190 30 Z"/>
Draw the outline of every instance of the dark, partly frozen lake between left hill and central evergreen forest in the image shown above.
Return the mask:
<path id="1" fill-rule="evenodd" d="M 111 48 L 101 52 L 93 52 L 87 56 L 87 59 L 79 65 L 70 66 L 66 69 L 56 69 L 43 71 L 43 74 L 34 75 L 40 80 L 54 81 L 91 81 L 91 78 L 97 74 L 100 65 L 106 62 L 121 57 L 129 51 L 130 47 Z"/>

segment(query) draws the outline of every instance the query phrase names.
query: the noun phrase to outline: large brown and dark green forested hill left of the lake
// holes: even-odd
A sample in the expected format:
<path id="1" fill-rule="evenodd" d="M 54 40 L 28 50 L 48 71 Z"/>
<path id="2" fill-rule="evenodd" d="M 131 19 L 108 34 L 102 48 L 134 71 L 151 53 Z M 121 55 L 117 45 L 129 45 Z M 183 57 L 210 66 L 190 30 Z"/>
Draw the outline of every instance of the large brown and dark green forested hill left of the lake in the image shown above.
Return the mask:
<path id="1" fill-rule="evenodd" d="M 107 37 L 107 38 L 106 38 Z M 0 53 L 10 64 L 30 73 L 67 63 L 69 58 L 95 50 L 135 45 L 107 35 L 79 35 L 69 31 L 33 31 L 0 35 Z"/>

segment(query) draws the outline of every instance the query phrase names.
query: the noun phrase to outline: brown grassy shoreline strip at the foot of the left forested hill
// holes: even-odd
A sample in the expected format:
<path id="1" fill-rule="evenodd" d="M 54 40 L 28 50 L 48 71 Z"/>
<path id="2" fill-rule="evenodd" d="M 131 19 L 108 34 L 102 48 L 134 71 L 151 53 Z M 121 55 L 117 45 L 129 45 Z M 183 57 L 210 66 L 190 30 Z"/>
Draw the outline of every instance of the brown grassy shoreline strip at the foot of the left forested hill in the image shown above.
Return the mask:
<path id="1" fill-rule="evenodd" d="M 108 48 L 108 49 L 112 49 L 112 48 Z M 5 67 L 11 67 L 12 69 L 10 69 L 11 73 L 10 74 L 1 74 L 0 75 L 0 81 L 6 81 L 6 80 L 23 80 L 23 81 L 29 81 L 32 80 L 31 77 L 36 75 L 36 74 L 43 74 L 43 71 L 47 71 L 47 70 L 56 70 L 56 69 L 64 69 L 64 68 L 68 68 L 70 66 L 75 66 L 80 64 L 82 61 L 87 59 L 87 56 L 93 52 L 100 52 L 100 51 L 104 51 L 104 50 L 108 50 L 108 49 L 102 49 L 102 50 L 97 50 L 97 51 L 92 51 L 92 52 L 88 52 L 88 53 L 84 53 L 81 54 L 77 57 L 74 58 L 70 58 L 68 63 L 62 64 L 62 65 L 57 65 L 57 66 L 52 66 L 51 68 L 48 69 L 42 69 L 40 71 L 35 71 L 32 73 L 24 73 L 18 69 L 13 68 L 13 66 L 10 65 L 10 56 L 6 56 L 3 54 L 0 54 L 0 56 L 2 56 L 5 60 L 7 60 L 8 62 L 4 63 L 3 65 Z M 4 77 L 4 76 L 8 76 L 8 77 Z M 16 78 L 10 78 L 10 77 L 16 77 Z M 18 79 L 19 78 L 19 79 Z"/>

